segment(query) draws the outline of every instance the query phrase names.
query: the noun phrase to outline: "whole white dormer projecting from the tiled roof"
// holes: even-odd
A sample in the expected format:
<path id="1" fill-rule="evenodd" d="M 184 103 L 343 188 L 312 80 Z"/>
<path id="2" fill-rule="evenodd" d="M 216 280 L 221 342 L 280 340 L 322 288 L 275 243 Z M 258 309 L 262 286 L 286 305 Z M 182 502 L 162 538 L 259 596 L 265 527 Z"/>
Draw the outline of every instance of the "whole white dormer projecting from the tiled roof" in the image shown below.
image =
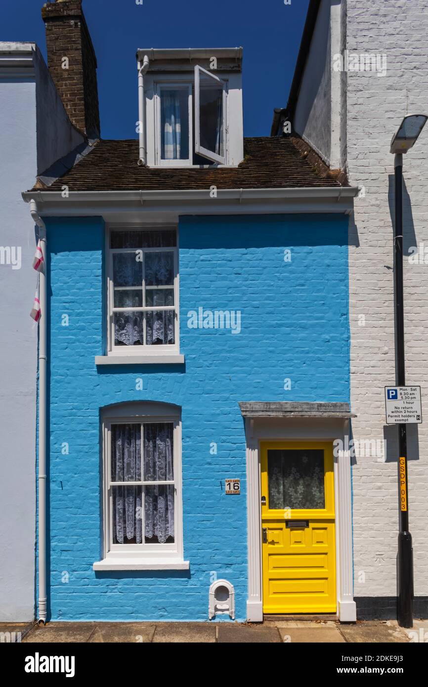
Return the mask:
<path id="1" fill-rule="evenodd" d="M 238 165 L 243 159 L 242 50 L 150 49 L 137 56 L 140 164 Z"/>

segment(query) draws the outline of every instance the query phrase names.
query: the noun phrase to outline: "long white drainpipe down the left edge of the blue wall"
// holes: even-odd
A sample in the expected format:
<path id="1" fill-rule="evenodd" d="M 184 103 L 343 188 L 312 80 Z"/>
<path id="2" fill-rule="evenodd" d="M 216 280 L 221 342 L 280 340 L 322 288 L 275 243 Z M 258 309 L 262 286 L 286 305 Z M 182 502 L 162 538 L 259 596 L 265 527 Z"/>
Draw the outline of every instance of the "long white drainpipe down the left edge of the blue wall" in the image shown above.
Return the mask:
<path id="1" fill-rule="evenodd" d="M 39 272 L 38 300 L 41 318 L 38 324 L 38 623 L 46 622 L 46 227 L 37 212 L 36 201 L 30 201 L 30 213 L 39 227 L 40 246 L 45 271 Z"/>

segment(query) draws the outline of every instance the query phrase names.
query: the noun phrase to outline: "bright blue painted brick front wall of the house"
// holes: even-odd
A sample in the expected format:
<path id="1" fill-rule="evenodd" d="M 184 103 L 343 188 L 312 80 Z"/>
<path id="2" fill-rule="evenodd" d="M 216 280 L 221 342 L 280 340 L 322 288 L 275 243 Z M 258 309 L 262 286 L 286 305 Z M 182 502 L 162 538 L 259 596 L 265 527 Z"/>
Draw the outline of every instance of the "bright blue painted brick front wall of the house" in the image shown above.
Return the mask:
<path id="1" fill-rule="evenodd" d="M 236 617 L 245 620 L 245 435 L 238 401 L 349 400 L 347 218 L 181 218 L 185 368 L 178 370 L 95 368 L 95 355 L 104 353 L 104 222 L 53 218 L 47 229 L 52 619 L 206 620 L 216 574 L 234 584 Z M 291 262 L 284 261 L 285 249 Z M 188 328 L 188 313 L 201 306 L 240 311 L 240 334 Z M 144 390 L 136 391 L 141 376 Z M 285 378 L 291 390 L 284 390 Z M 189 572 L 92 569 L 102 547 L 100 407 L 137 400 L 182 407 Z M 210 454 L 211 442 L 217 455 Z M 240 477 L 240 496 L 225 496 L 225 477 Z"/>

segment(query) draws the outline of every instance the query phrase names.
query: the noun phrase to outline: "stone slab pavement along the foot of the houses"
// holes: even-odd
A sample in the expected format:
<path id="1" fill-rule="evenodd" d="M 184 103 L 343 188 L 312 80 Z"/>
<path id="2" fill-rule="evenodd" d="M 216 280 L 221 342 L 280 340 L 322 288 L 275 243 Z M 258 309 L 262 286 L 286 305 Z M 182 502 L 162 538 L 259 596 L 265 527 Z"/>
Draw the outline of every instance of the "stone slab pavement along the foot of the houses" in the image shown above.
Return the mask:
<path id="1" fill-rule="evenodd" d="M 0 623 L 0 642 L 33 644 L 153 642 L 155 644 L 407 643 L 428 641 L 428 620 L 415 620 L 406 630 L 395 620 L 341 624 L 335 620 L 266 620 L 238 622 L 49 622 L 45 627 Z"/>

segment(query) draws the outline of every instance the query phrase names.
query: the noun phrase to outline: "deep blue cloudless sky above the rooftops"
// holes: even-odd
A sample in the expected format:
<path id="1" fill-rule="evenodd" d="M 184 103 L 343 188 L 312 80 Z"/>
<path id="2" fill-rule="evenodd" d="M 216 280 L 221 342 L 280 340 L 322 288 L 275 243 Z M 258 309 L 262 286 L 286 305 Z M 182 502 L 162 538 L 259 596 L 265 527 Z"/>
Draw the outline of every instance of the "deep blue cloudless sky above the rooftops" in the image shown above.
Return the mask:
<path id="1" fill-rule="evenodd" d="M 2 3 L 1 41 L 32 41 L 46 59 L 43 0 Z M 269 135 L 286 105 L 308 0 L 84 0 L 98 59 L 103 138 L 136 138 L 139 47 L 244 48 L 246 136 Z"/>

